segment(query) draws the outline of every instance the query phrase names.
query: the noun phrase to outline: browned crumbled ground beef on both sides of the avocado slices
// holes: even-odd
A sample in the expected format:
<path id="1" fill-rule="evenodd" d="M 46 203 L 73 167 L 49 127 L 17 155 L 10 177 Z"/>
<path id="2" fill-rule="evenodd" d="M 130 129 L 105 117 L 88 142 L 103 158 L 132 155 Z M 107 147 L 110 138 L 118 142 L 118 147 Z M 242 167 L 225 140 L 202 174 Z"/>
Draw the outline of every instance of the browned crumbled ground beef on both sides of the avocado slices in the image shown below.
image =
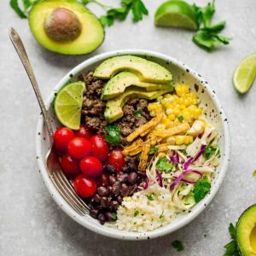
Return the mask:
<path id="1" fill-rule="evenodd" d="M 96 133 L 104 134 L 105 128 L 108 125 L 103 115 L 106 103 L 101 100 L 102 88 L 105 81 L 95 79 L 92 72 L 87 74 L 82 73 L 79 79 L 84 81 L 86 86 L 82 108 L 82 121 Z M 120 128 L 122 147 L 128 144 L 125 137 L 132 131 L 135 131 L 137 127 L 147 123 L 150 119 L 147 107 L 148 100 L 144 99 L 132 98 L 125 103 L 123 107 L 124 116 L 113 123 Z M 137 110 L 141 110 L 141 112 L 139 115 L 134 115 Z"/>

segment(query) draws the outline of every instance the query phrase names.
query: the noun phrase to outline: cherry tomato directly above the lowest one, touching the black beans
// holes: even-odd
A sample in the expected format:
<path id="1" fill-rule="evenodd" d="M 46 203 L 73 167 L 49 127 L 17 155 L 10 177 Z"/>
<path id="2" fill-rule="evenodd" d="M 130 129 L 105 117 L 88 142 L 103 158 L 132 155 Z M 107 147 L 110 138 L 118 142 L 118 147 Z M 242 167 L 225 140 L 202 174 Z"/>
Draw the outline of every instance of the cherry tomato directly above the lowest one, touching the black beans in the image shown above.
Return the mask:
<path id="1" fill-rule="evenodd" d="M 102 174 L 102 163 L 94 156 L 86 156 L 80 161 L 80 169 L 87 177 L 97 177 Z"/>

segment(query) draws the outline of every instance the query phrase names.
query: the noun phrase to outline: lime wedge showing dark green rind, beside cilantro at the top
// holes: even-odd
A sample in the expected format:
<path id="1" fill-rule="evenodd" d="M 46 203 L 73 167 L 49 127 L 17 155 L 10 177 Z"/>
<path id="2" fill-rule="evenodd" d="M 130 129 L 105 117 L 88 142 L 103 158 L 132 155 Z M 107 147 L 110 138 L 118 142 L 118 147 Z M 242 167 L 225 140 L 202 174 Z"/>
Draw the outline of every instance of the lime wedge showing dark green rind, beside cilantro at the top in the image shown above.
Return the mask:
<path id="1" fill-rule="evenodd" d="M 190 30 L 198 29 L 195 12 L 189 3 L 168 1 L 160 5 L 154 15 L 156 26 L 174 26 Z"/>

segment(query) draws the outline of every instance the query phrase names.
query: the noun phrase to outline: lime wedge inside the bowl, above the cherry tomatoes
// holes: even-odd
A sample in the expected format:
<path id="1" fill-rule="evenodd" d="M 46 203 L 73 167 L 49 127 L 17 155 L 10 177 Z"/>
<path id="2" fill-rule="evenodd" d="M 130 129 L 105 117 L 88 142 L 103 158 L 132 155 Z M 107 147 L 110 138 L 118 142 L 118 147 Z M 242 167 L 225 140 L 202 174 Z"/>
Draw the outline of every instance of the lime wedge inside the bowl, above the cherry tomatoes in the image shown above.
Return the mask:
<path id="1" fill-rule="evenodd" d="M 83 104 L 84 82 L 67 84 L 55 97 L 55 114 L 62 125 L 78 130 Z"/>

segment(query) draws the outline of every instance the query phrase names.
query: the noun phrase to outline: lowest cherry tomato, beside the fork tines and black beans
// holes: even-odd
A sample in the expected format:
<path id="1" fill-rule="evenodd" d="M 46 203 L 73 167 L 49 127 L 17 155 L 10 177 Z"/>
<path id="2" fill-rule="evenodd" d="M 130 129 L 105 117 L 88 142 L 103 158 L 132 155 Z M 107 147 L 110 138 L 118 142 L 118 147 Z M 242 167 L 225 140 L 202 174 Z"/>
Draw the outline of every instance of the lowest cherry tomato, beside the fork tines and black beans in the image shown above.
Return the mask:
<path id="1" fill-rule="evenodd" d="M 96 180 L 93 177 L 85 177 L 83 174 L 79 174 L 75 178 L 73 186 L 78 195 L 82 197 L 90 197 L 96 194 Z"/>

